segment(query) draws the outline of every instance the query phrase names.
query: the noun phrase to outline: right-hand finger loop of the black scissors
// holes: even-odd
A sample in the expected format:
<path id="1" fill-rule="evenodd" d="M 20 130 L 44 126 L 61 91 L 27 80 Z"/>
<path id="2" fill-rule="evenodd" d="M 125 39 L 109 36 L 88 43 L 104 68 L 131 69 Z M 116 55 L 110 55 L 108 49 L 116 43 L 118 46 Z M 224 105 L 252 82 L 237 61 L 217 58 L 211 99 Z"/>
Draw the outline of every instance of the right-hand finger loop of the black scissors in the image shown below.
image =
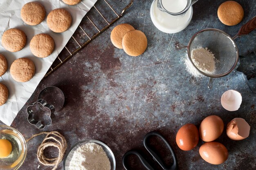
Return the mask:
<path id="1" fill-rule="evenodd" d="M 159 157 L 153 150 L 151 150 L 151 149 L 148 147 L 148 145 L 147 145 L 147 139 L 148 139 L 148 137 L 150 137 L 150 136 L 158 136 L 158 137 L 160 137 L 160 138 L 164 141 L 164 143 L 166 144 L 166 146 L 168 147 L 168 149 L 171 151 L 171 155 L 173 156 L 173 164 L 171 165 L 170 168 L 166 168 L 166 166 L 164 165 L 164 163 L 163 163 L 163 161 L 160 159 L 160 157 Z M 146 148 L 146 149 L 148 150 L 148 152 L 150 153 L 150 155 L 152 155 L 153 159 L 154 159 L 155 161 L 157 161 L 157 163 L 158 163 L 164 170 L 178 170 L 178 166 L 177 166 L 178 161 L 177 161 L 177 157 L 176 157 L 176 155 L 175 155 L 175 152 L 174 152 L 173 148 L 169 145 L 169 143 L 166 141 L 166 139 L 165 139 L 162 135 L 160 135 L 160 133 L 155 132 L 155 131 L 149 132 L 149 133 L 146 134 L 146 136 L 144 137 L 144 142 L 143 142 L 143 143 L 144 143 L 145 148 Z"/>

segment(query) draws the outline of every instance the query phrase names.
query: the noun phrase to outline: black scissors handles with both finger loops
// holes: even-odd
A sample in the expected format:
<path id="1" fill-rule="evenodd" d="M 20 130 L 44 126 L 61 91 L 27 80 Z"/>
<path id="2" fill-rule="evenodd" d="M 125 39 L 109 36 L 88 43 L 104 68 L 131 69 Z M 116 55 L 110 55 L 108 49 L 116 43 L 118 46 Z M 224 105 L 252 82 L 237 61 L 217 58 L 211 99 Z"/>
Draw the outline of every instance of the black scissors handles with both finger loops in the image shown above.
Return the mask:
<path id="1" fill-rule="evenodd" d="M 164 143 L 166 144 L 166 146 L 168 147 L 168 149 L 171 151 L 171 155 L 173 156 L 173 164 L 171 165 L 171 167 L 166 167 L 166 166 L 164 165 L 163 161 L 160 159 L 160 157 L 159 157 L 153 150 L 151 150 L 151 149 L 148 147 L 147 139 L 148 139 L 148 137 L 150 137 L 150 136 L 158 136 L 158 137 L 160 137 L 160 138 L 164 141 Z M 146 134 L 146 136 L 144 137 L 144 142 L 143 142 L 143 143 L 144 143 L 144 147 L 146 148 L 146 150 L 148 150 L 148 152 L 150 153 L 150 155 L 152 155 L 153 159 L 154 159 L 155 161 L 157 161 L 157 163 L 158 163 L 164 170 L 178 170 L 178 166 L 177 166 L 178 161 L 177 161 L 177 157 L 176 157 L 176 155 L 175 155 L 175 153 L 174 153 L 174 150 L 173 150 L 173 148 L 168 144 L 168 142 L 166 141 L 166 139 L 165 139 L 162 135 L 160 135 L 160 133 L 155 132 L 155 131 L 149 132 L 149 133 Z M 126 153 L 124 154 L 124 157 L 123 157 L 123 166 L 124 166 L 124 168 L 125 168 L 126 170 L 128 170 L 128 168 L 127 168 L 127 167 L 128 167 L 128 166 L 127 166 L 127 161 L 126 161 L 126 157 L 127 157 L 128 155 L 136 155 L 137 157 L 139 157 L 139 160 L 141 161 L 141 163 L 145 166 L 145 168 L 146 168 L 147 170 L 155 170 L 155 169 L 152 168 L 152 166 L 150 166 L 150 164 L 144 159 L 144 157 L 142 157 L 141 154 L 138 153 L 138 151 L 136 151 L 136 150 L 130 150 L 130 151 L 128 151 L 128 152 L 126 152 Z"/>

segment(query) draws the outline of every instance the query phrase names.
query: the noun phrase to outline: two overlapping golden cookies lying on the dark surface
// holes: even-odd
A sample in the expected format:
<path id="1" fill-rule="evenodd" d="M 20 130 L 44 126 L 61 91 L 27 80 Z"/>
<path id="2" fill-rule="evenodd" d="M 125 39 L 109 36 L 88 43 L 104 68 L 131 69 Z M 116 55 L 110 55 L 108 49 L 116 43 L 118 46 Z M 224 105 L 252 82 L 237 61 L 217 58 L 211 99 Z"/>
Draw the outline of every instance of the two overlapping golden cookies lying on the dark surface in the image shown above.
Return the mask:
<path id="1" fill-rule="evenodd" d="M 146 35 L 135 30 L 130 24 L 120 24 L 116 26 L 110 35 L 112 44 L 120 49 L 124 49 L 130 56 L 139 56 L 145 52 L 148 41 Z"/>

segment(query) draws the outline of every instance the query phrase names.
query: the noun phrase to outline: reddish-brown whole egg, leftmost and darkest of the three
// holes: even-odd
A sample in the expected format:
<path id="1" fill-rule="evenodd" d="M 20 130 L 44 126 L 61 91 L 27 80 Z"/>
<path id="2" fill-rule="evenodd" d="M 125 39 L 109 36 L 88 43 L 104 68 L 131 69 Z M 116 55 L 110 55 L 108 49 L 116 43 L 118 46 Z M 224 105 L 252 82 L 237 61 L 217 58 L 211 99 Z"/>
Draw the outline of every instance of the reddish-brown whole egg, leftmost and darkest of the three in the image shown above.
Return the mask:
<path id="1" fill-rule="evenodd" d="M 182 150 L 191 150 L 197 146 L 199 140 L 198 129 L 194 124 L 183 125 L 176 135 L 176 143 Z"/>

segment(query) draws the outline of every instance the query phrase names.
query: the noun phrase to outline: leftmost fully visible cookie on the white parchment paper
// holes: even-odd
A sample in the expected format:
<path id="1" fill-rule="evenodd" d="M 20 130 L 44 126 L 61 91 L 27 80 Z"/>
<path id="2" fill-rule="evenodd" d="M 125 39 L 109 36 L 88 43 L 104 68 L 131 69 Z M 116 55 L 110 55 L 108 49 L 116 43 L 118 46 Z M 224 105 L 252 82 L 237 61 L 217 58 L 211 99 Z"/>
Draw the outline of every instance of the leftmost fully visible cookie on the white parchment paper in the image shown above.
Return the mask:
<path id="1" fill-rule="evenodd" d="M 2 46 L 10 52 L 20 51 L 26 42 L 26 34 L 17 28 L 11 28 L 2 35 Z"/>

